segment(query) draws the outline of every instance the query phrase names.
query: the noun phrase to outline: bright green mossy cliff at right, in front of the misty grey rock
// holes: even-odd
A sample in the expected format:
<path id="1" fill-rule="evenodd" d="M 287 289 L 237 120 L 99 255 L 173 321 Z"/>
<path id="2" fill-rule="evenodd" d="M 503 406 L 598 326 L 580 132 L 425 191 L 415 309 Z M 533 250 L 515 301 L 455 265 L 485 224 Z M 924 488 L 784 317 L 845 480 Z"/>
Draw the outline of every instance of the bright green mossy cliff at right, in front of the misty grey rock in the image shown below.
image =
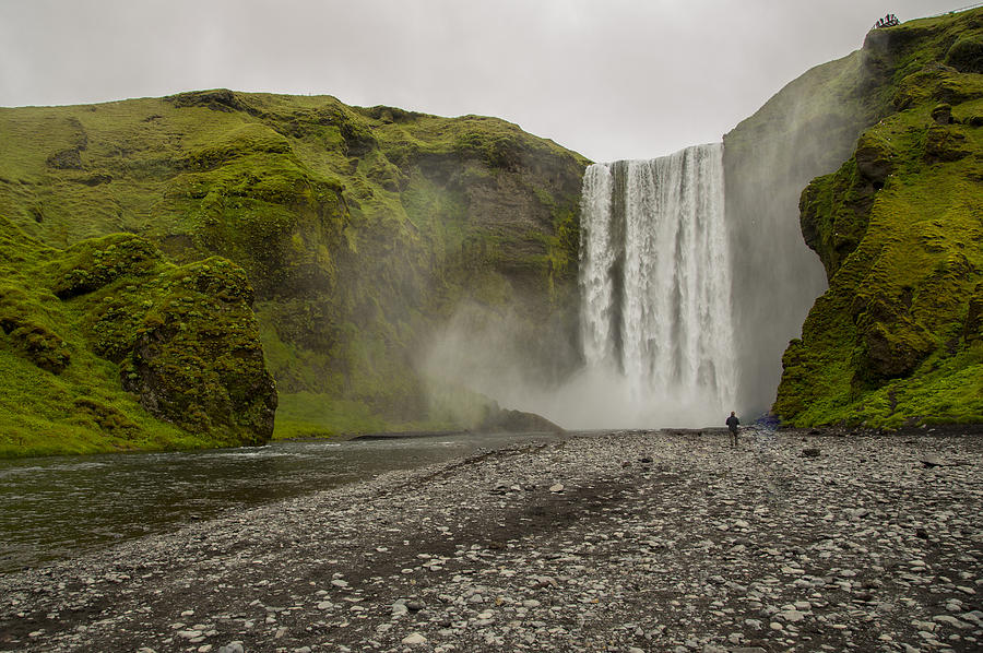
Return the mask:
<path id="1" fill-rule="evenodd" d="M 868 34 L 883 119 L 801 198 L 829 289 L 783 357 L 798 425 L 983 422 L 983 10 Z"/>

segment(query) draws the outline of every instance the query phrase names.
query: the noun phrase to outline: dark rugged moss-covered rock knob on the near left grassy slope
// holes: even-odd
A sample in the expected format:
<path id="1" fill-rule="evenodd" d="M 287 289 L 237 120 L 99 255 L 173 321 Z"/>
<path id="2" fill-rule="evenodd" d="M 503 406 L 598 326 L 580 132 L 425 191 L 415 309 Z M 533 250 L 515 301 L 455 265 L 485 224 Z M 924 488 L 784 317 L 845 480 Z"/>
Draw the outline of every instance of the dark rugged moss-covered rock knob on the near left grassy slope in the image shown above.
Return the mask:
<path id="1" fill-rule="evenodd" d="M 236 265 L 212 258 L 168 266 L 149 242 L 109 236 L 70 248 L 55 286 L 83 302 L 96 353 L 119 365 L 122 388 L 151 414 L 236 443 L 273 436 L 276 389 L 253 292 Z"/>

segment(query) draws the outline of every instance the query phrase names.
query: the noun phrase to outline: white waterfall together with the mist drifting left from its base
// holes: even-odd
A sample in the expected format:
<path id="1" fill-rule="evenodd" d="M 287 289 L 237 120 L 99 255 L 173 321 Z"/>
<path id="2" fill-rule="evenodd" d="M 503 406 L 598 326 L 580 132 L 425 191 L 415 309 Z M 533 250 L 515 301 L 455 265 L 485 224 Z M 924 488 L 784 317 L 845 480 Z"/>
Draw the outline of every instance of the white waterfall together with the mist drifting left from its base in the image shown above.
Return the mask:
<path id="1" fill-rule="evenodd" d="M 559 385 L 531 379 L 508 314 L 478 309 L 459 309 L 427 355 L 429 373 L 565 428 L 723 424 L 738 406 L 722 151 L 587 169 L 578 373 Z"/>

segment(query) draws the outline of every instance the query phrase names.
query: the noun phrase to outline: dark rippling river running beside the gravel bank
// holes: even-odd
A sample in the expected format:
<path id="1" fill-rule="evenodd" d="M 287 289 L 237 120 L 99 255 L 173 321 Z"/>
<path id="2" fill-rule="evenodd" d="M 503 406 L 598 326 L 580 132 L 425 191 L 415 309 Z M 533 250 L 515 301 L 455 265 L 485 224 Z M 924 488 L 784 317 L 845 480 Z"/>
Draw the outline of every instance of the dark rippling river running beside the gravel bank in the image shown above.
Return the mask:
<path id="1" fill-rule="evenodd" d="M 0 460 L 0 572 L 481 448 L 558 438 L 461 434 Z"/>

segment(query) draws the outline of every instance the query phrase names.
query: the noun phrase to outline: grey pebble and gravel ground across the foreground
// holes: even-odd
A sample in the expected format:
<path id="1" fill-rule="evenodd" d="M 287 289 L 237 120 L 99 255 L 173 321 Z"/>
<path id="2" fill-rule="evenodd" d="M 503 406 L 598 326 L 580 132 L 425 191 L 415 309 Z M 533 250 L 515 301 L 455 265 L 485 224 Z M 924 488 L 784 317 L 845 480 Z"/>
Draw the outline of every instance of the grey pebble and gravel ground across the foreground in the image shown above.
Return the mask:
<path id="1" fill-rule="evenodd" d="M 612 432 L 0 577 L 3 651 L 981 651 L 983 438 Z"/>

